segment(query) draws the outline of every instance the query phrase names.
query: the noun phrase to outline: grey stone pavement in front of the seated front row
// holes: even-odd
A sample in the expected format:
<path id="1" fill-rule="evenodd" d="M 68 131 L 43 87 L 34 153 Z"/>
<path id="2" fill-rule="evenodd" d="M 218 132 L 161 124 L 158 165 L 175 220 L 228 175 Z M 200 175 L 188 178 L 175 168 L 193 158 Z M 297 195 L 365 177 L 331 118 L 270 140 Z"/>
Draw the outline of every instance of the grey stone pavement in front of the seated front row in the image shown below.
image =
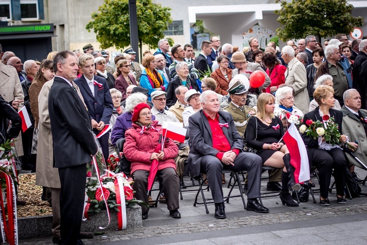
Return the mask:
<path id="1" fill-rule="evenodd" d="M 366 173 L 357 171 L 361 176 Z M 263 174 L 265 177 L 267 174 Z M 227 181 L 229 176 L 227 176 Z M 313 179 L 316 183 L 317 180 Z M 185 179 L 185 183 L 189 183 Z M 224 186 L 224 193 L 228 193 Z M 265 191 L 266 180 L 262 181 L 262 191 Z M 234 192 L 238 192 L 238 189 Z M 367 193 L 367 187 L 362 186 L 362 192 Z M 230 199 L 226 203 L 227 219 L 214 218 L 214 205 L 208 205 L 206 214 L 203 205 L 193 207 L 194 192 L 184 193 L 180 200 L 182 218 L 172 219 L 168 216 L 165 204 L 151 208 L 149 219 L 143 221 L 143 227 L 123 231 L 109 231 L 92 240 L 83 240 L 85 244 L 319 244 L 341 243 L 341 232 L 355 242 L 367 244 L 367 197 L 353 198 L 347 204 L 336 203 L 335 191 L 330 194 L 330 206 L 321 207 L 314 204 L 310 195 L 309 202 L 301 203 L 299 207 L 290 208 L 280 205 L 279 197 L 263 198 L 263 203 L 270 209 L 268 214 L 257 214 L 243 210 L 241 198 Z M 210 192 L 206 195 L 210 196 Z M 245 197 L 246 198 L 246 197 Z M 319 196 L 316 195 L 318 200 Z M 364 222 L 364 223 L 358 223 Z M 350 224 L 349 224 L 350 223 Z M 321 225 L 319 225 L 321 224 Z M 348 224 L 348 225 L 345 225 Z M 342 229 L 341 227 L 348 227 Z M 350 228 L 352 227 L 352 228 Z M 363 229 L 360 229 L 363 227 Z M 350 232 L 350 231 L 354 231 Z M 358 231 L 358 232 L 357 232 Z M 358 234 L 357 234 L 358 233 Z M 291 235 L 293 234 L 293 235 Z M 325 234 L 322 236 L 322 234 Z M 353 235 L 354 234 L 354 235 Z M 300 236 L 301 235 L 301 236 Z M 363 236 L 362 236 L 363 235 Z M 294 236 L 299 241 L 295 242 Z M 335 239 L 337 238 L 337 239 Z M 337 240 L 337 241 L 332 241 Z M 305 242 L 307 241 L 307 242 Z M 352 240 L 351 240 L 352 241 Z M 354 240 L 353 240 L 354 241 Z M 20 244 L 50 244 L 50 238 L 21 240 Z"/>

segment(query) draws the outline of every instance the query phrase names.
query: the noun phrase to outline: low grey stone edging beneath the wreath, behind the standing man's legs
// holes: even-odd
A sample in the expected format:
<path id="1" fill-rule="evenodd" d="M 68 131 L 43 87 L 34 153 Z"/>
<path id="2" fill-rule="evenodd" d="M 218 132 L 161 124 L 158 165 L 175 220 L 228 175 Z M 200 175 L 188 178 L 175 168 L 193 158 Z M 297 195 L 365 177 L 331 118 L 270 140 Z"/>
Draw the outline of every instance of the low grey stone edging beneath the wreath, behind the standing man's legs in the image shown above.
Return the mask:
<path id="1" fill-rule="evenodd" d="M 93 213 L 90 216 L 90 220 L 82 221 L 81 231 L 109 231 L 117 229 L 117 212 L 115 210 L 111 211 L 111 221 L 110 225 L 104 229 L 100 230 L 99 226 L 106 226 L 108 224 L 107 211 L 103 210 L 99 213 Z M 143 222 L 141 220 L 141 207 L 135 205 L 134 208 L 126 209 L 126 229 L 131 229 L 134 227 L 142 227 Z M 44 216 L 33 216 L 18 218 L 18 234 L 19 239 L 30 239 L 37 237 L 51 237 L 51 227 L 52 227 L 52 215 Z"/>

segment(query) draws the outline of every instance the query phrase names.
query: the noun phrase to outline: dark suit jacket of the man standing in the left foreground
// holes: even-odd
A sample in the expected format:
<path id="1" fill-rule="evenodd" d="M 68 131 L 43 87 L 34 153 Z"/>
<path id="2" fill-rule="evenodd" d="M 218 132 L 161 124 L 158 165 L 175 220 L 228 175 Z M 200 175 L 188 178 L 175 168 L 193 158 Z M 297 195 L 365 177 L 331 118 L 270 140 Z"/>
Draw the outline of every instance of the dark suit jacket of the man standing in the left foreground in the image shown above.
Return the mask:
<path id="1" fill-rule="evenodd" d="M 48 94 L 54 167 L 68 168 L 91 162 L 97 153 L 91 119 L 79 95 L 55 76 Z"/>

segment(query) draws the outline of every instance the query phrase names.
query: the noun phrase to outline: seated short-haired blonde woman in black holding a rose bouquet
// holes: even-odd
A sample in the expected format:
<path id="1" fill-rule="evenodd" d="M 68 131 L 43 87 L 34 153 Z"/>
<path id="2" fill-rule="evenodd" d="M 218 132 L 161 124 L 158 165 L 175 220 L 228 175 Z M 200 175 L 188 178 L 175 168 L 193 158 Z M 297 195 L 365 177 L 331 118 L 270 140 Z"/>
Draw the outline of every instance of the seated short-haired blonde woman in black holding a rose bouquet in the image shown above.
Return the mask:
<path id="1" fill-rule="evenodd" d="M 346 142 L 346 136 L 342 135 L 343 112 L 331 109 L 335 106 L 334 89 L 327 85 L 320 85 L 314 92 L 314 98 L 319 106 L 315 110 L 306 113 L 303 117 L 303 124 L 307 126 L 307 121 L 312 120 L 322 122 L 322 116 L 328 115 L 329 118 L 334 118 L 335 123 L 338 123 L 338 130 L 341 134 L 340 143 Z M 302 134 L 304 144 L 307 146 L 308 159 L 311 164 L 319 170 L 320 178 L 320 205 L 329 206 L 328 191 L 330 185 L 331 174 L 334 169 L 335 186 L 337 192 L 337 201 L 339 204 L 346 203 L 344 196 L 345 185 L 345 168 L 347 166 L 343 149 L 337 144 L 332 146 L 327 144 L 324 139 L 319 136 L 314 140 L 307 135 Z"/>

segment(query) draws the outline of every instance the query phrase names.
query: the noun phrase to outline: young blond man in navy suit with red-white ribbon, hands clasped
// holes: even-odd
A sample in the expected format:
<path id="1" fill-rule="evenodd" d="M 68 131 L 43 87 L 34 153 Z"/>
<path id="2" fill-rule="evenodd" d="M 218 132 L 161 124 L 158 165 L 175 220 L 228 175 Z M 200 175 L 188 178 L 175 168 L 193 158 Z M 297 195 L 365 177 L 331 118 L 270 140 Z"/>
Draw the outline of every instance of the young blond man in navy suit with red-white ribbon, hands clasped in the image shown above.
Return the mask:
<path id="1" fill-rule="evenodd" d="M 94 75 L 93 56 L 89 53 L 80 55 L 79 67 L 84 74 L 75 79 L 74 82 L 78 85 L 80 93 L 84 98 L 88 114 L 91 117 L 93 132 L 97 135 L 105 124 L 110 123 L 111 115 L 114 111 L 114 103 L 112 102 L 106 79 Z M 109 157 L 108 137 L 109 134 L 105 134 L 98 138 L 105 159 Z"/>

